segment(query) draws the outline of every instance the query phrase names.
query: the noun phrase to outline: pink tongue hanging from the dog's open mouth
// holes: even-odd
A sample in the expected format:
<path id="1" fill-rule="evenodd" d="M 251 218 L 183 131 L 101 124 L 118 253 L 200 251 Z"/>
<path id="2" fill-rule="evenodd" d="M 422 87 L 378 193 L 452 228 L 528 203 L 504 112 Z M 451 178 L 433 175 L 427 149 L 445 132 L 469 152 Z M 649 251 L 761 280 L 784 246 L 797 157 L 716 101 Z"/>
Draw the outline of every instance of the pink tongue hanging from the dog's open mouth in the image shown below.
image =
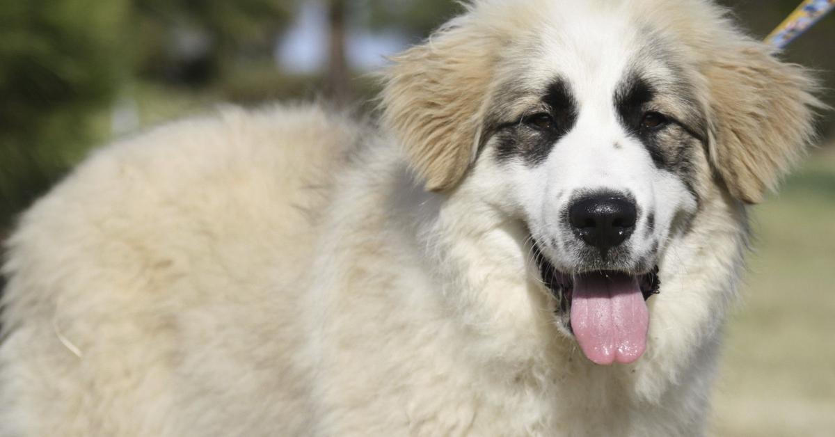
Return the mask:
<path id="1" fill-rule="evenodd" d="M 636 277 L 623 273 L 574 277 L 571 328 L 591 361 L 634 362 L 644 354 L 649 326 L 650 312 Z"/>

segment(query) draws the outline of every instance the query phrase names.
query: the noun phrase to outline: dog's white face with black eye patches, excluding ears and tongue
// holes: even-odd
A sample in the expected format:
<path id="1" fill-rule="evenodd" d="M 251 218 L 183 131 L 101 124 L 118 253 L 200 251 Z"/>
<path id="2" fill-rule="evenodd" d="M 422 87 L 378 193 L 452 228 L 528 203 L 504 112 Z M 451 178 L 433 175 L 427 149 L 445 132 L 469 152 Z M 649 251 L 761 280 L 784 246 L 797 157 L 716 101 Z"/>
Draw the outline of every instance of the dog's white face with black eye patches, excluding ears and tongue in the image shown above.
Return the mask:
<path id="1" fill-rule="evenodd" d="M 483 125 L 480 153 L 512 187 L 511 213 L 566 274 L 652 272 L 709 171 L 685 66 L 618 24 L 595 17 L 574 25 L 596 33 L 559 27 L 513 48 L 530 54 L 504 66 Z"/>

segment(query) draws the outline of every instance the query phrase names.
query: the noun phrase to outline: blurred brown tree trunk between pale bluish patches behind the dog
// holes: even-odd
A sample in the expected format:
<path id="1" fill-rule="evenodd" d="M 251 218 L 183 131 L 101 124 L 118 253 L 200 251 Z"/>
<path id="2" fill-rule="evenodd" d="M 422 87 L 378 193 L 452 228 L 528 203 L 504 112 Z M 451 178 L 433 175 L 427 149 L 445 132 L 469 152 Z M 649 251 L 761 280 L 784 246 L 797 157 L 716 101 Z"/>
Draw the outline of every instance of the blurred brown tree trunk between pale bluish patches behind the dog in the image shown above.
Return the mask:
<path id="1" fill-rule="evenodd" d="M 327 0 L 329 47 L 326 92 L 337 105 L 351 99 L 351 79 L 345 53 L 346 26 L 344 0 Z"/>

